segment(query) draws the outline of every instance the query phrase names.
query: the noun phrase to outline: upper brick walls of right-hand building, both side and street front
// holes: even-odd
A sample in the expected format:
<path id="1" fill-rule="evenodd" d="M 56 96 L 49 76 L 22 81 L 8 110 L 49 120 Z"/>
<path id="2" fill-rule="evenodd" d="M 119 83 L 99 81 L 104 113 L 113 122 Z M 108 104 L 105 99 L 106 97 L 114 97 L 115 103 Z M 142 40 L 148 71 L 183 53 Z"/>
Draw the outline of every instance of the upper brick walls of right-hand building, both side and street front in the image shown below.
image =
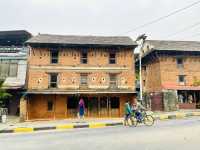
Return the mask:
<path id="1" fill-rule="evenodd" d="M 185 75 L 186 86 L 200 80 L 200 57 L 185 56 L 183 68 L 177 67 L 176 57 L 160 56 L 159 59 L 146 64 L 146 73 L 143 68 L 146 92 L 159 92 L 162 85 L 180 85 L 178 75 Z M 143 83 L 144 84 L 144 83 Z"/>

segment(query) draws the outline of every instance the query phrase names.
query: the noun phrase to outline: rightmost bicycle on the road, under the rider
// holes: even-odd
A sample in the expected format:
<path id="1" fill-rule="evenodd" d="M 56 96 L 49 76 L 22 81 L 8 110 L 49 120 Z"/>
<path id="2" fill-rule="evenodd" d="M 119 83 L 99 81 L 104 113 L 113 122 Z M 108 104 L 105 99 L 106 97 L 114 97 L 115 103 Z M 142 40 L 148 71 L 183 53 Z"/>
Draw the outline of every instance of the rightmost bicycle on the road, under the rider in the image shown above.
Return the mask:
<path id="1" fill-rule="evenodd" d="M 141 110 L 141 119 L 139 120 L 138 117 L 136 116 L 136 111 L 132 112 L 131 114 L 131 123 L 135 127 L 139 123 L 144 123 L 146 126 L 152 126 L 154 124 L 154 117 L 152 115 L 148 115 L 146 111 Z"/>

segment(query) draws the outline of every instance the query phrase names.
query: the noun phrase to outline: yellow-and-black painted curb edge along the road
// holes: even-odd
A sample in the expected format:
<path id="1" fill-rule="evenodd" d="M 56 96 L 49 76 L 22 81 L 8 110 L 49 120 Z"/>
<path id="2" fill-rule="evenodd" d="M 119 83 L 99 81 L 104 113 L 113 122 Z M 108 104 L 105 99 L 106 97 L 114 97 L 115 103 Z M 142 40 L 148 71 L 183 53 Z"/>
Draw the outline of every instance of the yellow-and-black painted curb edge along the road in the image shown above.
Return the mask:
<path id="1" fill-rule="evenodd" d="M 175 114 L 162 114 L 162 115 L 153 115 L 155 120 L 169 120 L 169 119 L 182 119 L 192 116 L 200 116 L 200 112 L 189 112 L 189 113 L 175 113 Z M 87 124 L 64 124 L 57 126 L 47 126 L 47 127 L 19 127 L 9 130 L 0 130 L 1 133 L 30 133 L 36 131 L 45 131 L 45 130 L 64 130 L 64 129 L 78 129 L 78 128 L 103 128 L 109 126 L 120 126 L 123 125 L 123 121 L 111 122 L 111 123 L 87 123 Z"/>

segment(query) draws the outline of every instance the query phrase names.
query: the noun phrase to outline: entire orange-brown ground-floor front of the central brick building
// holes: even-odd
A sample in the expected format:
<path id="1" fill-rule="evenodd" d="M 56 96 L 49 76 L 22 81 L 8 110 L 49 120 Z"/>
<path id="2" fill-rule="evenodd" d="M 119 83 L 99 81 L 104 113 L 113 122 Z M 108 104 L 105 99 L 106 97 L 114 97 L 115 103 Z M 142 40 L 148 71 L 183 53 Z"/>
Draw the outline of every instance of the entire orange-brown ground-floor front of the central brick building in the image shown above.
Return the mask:
<path id="1" fill-rule="evenodd" d="M 134 102 L 134 94 L 30 94 L 27 120 L 77 118 L 79 100 L 85 104 L 86 118 L 122 117 L 124 103 Z"/>

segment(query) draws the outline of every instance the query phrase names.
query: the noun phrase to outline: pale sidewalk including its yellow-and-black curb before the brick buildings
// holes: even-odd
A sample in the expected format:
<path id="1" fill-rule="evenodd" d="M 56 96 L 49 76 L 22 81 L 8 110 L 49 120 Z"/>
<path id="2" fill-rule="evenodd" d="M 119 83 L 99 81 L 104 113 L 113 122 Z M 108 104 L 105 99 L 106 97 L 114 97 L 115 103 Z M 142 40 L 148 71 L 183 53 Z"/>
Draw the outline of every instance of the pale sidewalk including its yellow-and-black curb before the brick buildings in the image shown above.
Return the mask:
<path id="1" fill-rule="evenodd" d="M 191 116 L 200 116 L 200 110 L 179 110 L 174 112 L 148 112 L 157 120 L 181 119 Z M 123 118 L 86 118 L 63 119 L 51 121 L 28 121 L 20 123 L 18 118 L 9 117 L 5 124 L 0 123 L 0 133 L 33 132 L 39 130 L 70 129 L 70 128 L 100 128 L 123 125 Z"/>

